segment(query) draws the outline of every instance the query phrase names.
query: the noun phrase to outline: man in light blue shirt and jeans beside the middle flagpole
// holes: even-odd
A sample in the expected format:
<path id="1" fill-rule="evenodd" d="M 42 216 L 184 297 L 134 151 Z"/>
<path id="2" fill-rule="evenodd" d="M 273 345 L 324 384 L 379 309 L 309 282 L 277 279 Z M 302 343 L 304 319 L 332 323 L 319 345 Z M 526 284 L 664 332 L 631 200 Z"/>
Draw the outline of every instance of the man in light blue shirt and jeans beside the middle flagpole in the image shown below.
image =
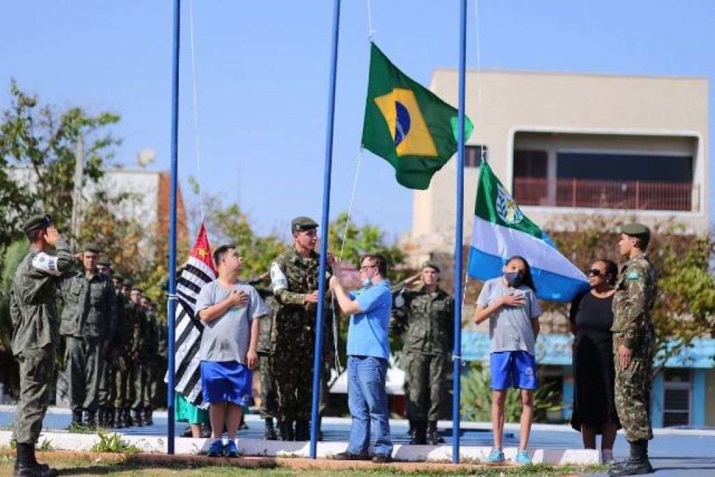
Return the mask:
<path id="1" fill-rule="evenodd" d="M 393 299 L 385 275 L 385 257 L 368 253 L 360 260 L 360 280 L 363 282 L 360 290 L 347 294 L 338 277 L 333 275 L 330 278 L 330 289 L 340 310 L 350 313 L 350 328 L 347 329 L 347 405 L 352 426 L 347 451 L 335 455 L 335 459 L 341 461 L 369 459 L 371 428 L 375 431 L 373 462 L 392 460 L 385 378 L 390 358 L 388 329 Z"/>

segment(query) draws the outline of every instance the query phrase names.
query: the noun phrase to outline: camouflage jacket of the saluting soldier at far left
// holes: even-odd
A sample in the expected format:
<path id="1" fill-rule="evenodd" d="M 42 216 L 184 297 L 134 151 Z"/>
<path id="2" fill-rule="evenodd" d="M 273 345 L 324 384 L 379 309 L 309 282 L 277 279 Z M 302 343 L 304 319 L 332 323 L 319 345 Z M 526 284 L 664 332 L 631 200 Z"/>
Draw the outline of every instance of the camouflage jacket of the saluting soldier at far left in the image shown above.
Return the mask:
<path id="1" fill-rule="evenodd" d="M 59 346 L 56 287 L 63 272 L 76 260 L 69 245 L 59 241 L 56 254 L 30 250 L 15 270 L 10 290 L 10 318 L 13 326 L 12 353 Z"/>

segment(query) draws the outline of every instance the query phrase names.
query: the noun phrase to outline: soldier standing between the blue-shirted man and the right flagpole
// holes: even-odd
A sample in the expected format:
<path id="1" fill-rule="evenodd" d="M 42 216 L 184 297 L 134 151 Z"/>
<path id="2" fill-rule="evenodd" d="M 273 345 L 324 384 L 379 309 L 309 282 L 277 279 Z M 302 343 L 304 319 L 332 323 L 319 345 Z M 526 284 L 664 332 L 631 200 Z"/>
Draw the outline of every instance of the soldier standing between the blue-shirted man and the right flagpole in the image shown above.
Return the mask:
<path id="1" fill-rule="evenodd" d="M 424 283 L 419 290 L 403 288 L 395 305 L 404 313 L 397 315 L 393 329 L 406 328 L 405 360 L 409 375 L 407 405 L 412 421 L 412 444 L 436 446 L 437 420 L 442 407 L 445 377 L 450 368 L 454 343 L 454 299 L 438 287 L 440 269 L 433 262 L 422 265 Z"/>

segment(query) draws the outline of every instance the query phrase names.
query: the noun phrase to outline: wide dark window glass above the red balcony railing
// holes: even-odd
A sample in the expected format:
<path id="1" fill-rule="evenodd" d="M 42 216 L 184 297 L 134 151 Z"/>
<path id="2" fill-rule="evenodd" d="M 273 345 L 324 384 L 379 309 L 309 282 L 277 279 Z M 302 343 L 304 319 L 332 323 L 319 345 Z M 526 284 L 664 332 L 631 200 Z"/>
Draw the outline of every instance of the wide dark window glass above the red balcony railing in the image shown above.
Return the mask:
<path id="1" fill-rule="evenodd" d="M 559 179 L 693 182 L 691 156 L 560 152 L 556 157 Z"/>

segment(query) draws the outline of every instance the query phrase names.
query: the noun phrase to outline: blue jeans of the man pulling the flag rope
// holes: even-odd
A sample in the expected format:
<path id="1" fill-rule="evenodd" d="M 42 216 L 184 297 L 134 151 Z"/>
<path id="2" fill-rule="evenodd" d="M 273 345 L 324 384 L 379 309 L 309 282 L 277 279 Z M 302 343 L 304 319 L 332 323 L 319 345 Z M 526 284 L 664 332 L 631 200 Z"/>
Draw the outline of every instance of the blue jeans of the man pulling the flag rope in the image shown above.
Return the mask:
<path id="1" fill-rule="evenodd" d="M 350 442 L 347 443 L 350 453 L 368 453 L 371 423 L 375 429 L 375 454 L 393 453 L 385 392 L 387 374 L 388 361 L 383 358 L 347 357 L 347 406 L 352 416 Z"/>

